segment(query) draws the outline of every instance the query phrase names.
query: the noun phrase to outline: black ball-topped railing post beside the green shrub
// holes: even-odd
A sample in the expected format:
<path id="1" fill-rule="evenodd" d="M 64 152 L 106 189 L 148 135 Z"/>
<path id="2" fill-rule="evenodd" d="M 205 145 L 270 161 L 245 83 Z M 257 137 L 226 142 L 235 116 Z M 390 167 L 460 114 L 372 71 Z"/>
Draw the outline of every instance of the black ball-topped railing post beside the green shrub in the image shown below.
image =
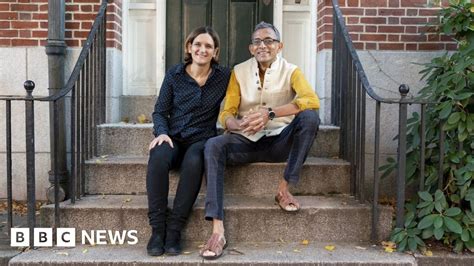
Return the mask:
<path id="1" fill-rule="evenodd" d="M 398 88 L 400 91 L 400 111 L 398 125 L 398 173 L 397 173 L 397 221 L 398 228 L 403 227 L 405 211 L 405 173 L 407 158 L 407 103 L 404 103 L 410 88 L 402 84 Z"/>

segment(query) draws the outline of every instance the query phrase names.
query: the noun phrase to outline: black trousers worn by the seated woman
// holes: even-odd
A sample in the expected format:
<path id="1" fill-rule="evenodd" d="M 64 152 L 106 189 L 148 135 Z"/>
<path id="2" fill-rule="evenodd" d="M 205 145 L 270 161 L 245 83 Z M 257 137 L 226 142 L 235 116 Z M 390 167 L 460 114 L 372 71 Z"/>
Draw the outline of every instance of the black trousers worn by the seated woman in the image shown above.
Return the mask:
<path id="1" fill-rule="evenodd" d="M 153 228 L 181 231 L 201 188 L 206 140 L 183 144 L 173 140 L 174 148 L 163 142 L 150 150 L 146 189 L 148 218 Z M 169 171 L 180 169 L 176 197 L 167 222 Z"/>

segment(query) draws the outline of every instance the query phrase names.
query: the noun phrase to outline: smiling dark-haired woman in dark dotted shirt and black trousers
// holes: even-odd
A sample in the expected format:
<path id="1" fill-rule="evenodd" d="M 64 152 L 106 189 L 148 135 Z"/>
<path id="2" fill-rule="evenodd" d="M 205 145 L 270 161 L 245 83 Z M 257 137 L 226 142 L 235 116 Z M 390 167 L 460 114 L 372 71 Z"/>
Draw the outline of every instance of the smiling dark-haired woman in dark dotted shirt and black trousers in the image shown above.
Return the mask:
<path id="1" fill-rule="evenodd" d="M 204 143 L 216 135 L 230 78 L 230 70 L 218 65 L 219 44 L 210 27 L 192 31 L 185 42 L 185 62 L 168 70 L 155 104 L 146 180 L 151 256 L 181 252 L 181 231 L 201 187 Z M 169 171 L 175 168 L 180 178 L 167 218 Z"/>

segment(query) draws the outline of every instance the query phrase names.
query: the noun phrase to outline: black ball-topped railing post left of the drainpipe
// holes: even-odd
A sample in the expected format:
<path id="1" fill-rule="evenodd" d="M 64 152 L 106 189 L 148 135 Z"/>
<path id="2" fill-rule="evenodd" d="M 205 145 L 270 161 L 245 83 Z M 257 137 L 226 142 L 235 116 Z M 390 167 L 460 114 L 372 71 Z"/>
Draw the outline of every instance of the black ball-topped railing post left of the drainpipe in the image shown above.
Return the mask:
<path id="1" fill-rule="evenodd" d="M 30 247 L 33 247 L 33 232 L 36 224 L 36 195 L 35 195 L 35 114 L 33 89 L 35 83 L 31 80 L 25 81 L 25 137 L 26 137 L 26 201 L 28 206 L 28 227 L 30 229 Z"/>

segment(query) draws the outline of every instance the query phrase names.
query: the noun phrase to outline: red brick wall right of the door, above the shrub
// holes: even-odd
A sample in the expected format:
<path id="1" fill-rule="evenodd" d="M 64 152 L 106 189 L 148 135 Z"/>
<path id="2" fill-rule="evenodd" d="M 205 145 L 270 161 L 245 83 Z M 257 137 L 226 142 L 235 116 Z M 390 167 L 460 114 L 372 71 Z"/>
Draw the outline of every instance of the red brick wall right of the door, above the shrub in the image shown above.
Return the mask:
<path id="1" fill-rule="evenodd" d="M 453 50 L 435 33 L 439 7 L 430 0 L 339 0 L 352 41 L 362 50 Z M 446 2 L 446 1 L 443 1 Z M 332 48 L 332 1 L 318 0 L 318 50 Z M 444 3 L 446 4 L 446 3 Z"/>

